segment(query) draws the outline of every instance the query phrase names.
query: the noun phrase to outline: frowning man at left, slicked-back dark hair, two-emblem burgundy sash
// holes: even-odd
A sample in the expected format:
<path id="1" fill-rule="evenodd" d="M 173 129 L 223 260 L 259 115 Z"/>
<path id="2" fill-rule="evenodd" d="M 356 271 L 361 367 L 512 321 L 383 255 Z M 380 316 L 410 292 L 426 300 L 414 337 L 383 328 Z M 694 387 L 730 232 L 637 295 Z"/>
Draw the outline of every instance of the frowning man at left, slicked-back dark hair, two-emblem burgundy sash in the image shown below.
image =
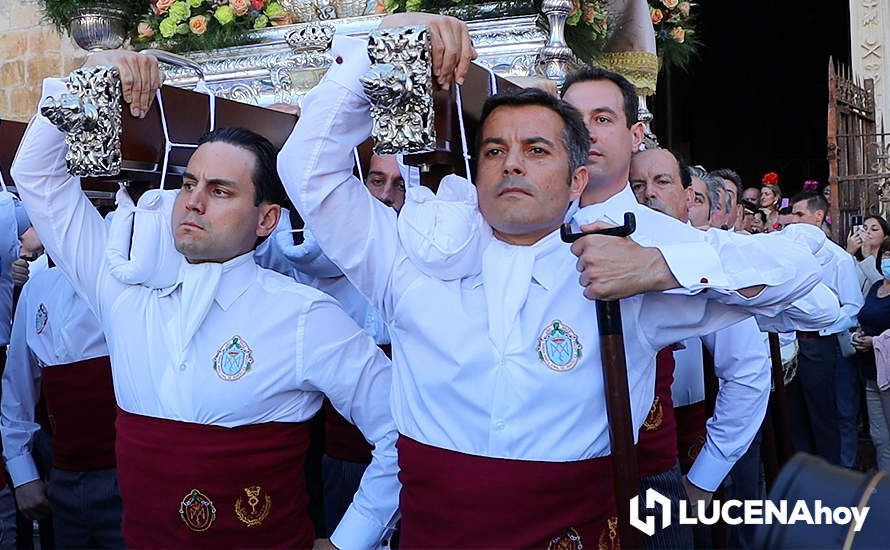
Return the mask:
<path id="1" fill-rule="evenodd" d="M 113 51 L 87 64 L 115 66 L 131 113 L 145 115 L 157 60 Z M 44 82 L 44 97 L 64 91 Z M 285 201 L 275 148 L 237 128 L 202 138 L 173 206 L 178 278 L 163 289 L 110 273 L 107 230 L 67 175 L 66 151 L 37 116 L 13 174 L 48 253 L 106 334 L 127 546 L 311 546 L 306 421 L 325 395 L 374 445 L 331 542 L 377 545 L 399 492 L 389 364 L 333 299 L 254 262 Z"/>

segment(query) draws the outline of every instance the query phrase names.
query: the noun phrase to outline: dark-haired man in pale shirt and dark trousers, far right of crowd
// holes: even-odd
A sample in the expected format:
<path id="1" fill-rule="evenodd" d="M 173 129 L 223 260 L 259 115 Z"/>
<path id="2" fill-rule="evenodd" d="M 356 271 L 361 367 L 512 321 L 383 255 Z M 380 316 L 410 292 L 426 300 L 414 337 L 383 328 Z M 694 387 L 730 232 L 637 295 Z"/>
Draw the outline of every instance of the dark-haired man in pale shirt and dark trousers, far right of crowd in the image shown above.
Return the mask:
<path id="1" fill-rule="evenodd" d="M 791 224 L 822 227 L 828 213 L 822 193 L 803 191 L 792 197 L 791 205 Z M 797 333 L 797 381 L 789 397 L 797 404 L 791 417 L 792 433 L 796 450 L 849 468 L 859 444 L 859 380 L 856 369 L 841 355 L 838 334 L 856 326 L 864 298 L 853 256 L 829 243 L 835 261 L 825 267 L 823 277 L 837 291 L 842 316 L 830 327 Z"/>

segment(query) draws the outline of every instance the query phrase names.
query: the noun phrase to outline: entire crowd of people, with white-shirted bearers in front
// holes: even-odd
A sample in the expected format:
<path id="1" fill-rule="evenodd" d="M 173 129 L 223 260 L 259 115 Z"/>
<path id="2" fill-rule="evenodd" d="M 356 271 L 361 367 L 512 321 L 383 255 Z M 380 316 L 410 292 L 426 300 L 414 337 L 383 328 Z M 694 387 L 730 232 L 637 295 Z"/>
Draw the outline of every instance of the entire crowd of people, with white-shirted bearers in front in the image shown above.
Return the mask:
<path id="1" fill-rule="evenodd" d="M 462 84 L 466 26 L 382 25 L 418 23 L 437 85 Z M 213 130 L 181 189 L 122 188 L 106 219 L 66 173 L 64 134 L 35 116 L 12 170 L 28 216 L 0 193 L 14 318 L 0 546 L 15 545 L 17 508 L 20 542 L 51 521 L 66 548 L 617 547 L 594 300 L 621 299 L 641 490 L 763 498 L 768 332 L 796 364 L 795 448 L 855 466 L 864 390 L 890 468 L 883 218 L 844 250 L 817 190 L 783 200 L 774 174 L 746 186 L 646 148 L 633 86 L 594 67 L 561 97 L 490 97 L 473 183 L 433 192 L 395 156 L 356 166 L 366 51 L 335 38 L 280 151 Z M 145 116 L 154 58 L 86 64 L 117 67 Z M 63 89 L 47 79 L 44 97 Z M 627 212 L 630 238 L 560 238 Z M 27 279 L 14 315 L 13 276 Z M 752 526 L 728 536 L 749 547 Z M 673 522 L 646 544 L 712 537 Z"/>

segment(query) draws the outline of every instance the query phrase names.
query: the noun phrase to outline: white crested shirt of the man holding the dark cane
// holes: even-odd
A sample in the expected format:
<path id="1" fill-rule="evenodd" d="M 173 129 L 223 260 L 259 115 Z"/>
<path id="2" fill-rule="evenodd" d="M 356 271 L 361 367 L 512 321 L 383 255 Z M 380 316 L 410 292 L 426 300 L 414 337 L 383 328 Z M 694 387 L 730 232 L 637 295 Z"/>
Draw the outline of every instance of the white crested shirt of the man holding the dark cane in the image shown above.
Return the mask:
<path id="1" fill-rule="evenodd" d="M 399 431 L 422 443 L 487 457 L 570 461 L 608 455 L 595 304 L 582 295 L 569 245 L 558 231 L 527 247 L 493 241 L 483 254 L 481 273 L 456 280 L 418 269 L 405 253 L 391 209 L 352 175 L 348 152 L 371 128 L 358 83 L 368 67 L 365 46 L 337 37 L 333 53 L 342 64 L 304 99 L 278 169 L 322 249 L 390 327 L 392 411 Z M 717 254 L 711 256 L 719 263 Z M 775 283 L 786 300 L 818 281 L 812 256 L 800 256 L 788 268 L 787 280 Z M 709 272 L 687 268 L 696 276 L 679 279 L 717 287 L 727 301 L 757 305 L 757 298 L 717 286 L 728 280 L 723 273 L 709 285 L 701 281 Z M 750 281 L 772 282 L 762 276 Z M 760 299 L 766 308 L 781 302 L 777 289 L 763 294 L 771 295 Z M 637 429 L 652 403 L 656 352 L 750 316 L 704 296 L 665 293 L 622 300 L 621 307 Z M 547 346 L 557 322 L 567 330 L 560 341 L 563 351 L 571 352 L 571 360 L 566 354 L 556 363 L 560 368 L 544 358 L 546 353 L 554 362 Z"/>

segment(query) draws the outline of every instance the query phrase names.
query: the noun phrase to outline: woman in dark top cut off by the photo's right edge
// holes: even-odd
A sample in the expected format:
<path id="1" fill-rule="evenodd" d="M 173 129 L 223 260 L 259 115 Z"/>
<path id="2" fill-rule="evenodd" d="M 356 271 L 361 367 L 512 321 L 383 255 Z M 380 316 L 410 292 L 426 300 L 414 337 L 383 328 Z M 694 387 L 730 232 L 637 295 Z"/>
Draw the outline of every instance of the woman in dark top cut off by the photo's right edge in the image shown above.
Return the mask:
<path id="1" fill-rule="evenodd" d="M 880 368 L 875 356 L 875 341 L 887 338 L 881 334 L 890 330 L 890 238 L 881 242 L 871 261 L 881 280 L 874 283 L 865 296 L 865 304 L 859 311 L 860 328 L 853 334 L 853 347 L 858 352 L 856 361 L 865 379 L 869 432 L 877 451 L 878 467 L 890 471 L 890 369 Z"/>

